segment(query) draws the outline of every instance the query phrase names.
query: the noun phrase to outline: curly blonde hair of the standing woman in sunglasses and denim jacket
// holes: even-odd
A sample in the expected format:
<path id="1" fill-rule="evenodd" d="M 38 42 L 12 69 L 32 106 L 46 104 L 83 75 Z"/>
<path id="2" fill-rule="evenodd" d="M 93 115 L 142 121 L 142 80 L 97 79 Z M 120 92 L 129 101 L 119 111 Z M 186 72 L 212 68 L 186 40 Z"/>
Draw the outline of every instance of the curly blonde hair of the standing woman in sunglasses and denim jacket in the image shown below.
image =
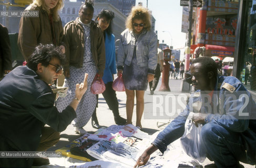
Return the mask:
<path id="1" fill-rule="evenodd" d="M 129 30 L 134 30 L 134 23 L 135 19 L 141 19 L 143 20 L 145 26 L 144 28 L 147 30 L 151 29 L 151 16 L 149 14 L 149 11 L 147 8 L 142 6 L 134 6 L 131 8 L 131 13 L 127 17 L 126 20 L 126 28 Z"/>

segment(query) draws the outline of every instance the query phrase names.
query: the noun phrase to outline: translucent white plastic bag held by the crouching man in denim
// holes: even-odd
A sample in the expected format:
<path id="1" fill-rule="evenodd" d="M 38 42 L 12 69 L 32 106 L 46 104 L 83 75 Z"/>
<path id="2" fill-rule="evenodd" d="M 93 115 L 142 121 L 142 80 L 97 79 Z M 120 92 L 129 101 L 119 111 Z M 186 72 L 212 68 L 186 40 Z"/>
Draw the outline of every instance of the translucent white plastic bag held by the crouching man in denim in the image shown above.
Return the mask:
<path id="1" fill-rule="evenodd" d="M 183 150 L 190 157 L 202 163 L 206 159 L 206 147 L 201 136 L 202 124 L 198 124 L 196 127 L 191 118 L 192 116 L 185 123 L 185 132 L 180 141 Z"/>

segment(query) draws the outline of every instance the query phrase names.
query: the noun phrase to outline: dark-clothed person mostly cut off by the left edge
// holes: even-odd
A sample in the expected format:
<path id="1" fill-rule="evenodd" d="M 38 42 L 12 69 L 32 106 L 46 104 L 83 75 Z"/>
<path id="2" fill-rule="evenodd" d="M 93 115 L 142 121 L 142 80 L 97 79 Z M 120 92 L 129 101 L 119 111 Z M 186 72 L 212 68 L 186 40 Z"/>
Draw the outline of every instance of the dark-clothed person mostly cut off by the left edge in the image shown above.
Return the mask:
<path id="1" fill-rule="evenodd" d="M 12 69 L 11 44 L 8 29 L 0 24 L 0 80 Z"/>

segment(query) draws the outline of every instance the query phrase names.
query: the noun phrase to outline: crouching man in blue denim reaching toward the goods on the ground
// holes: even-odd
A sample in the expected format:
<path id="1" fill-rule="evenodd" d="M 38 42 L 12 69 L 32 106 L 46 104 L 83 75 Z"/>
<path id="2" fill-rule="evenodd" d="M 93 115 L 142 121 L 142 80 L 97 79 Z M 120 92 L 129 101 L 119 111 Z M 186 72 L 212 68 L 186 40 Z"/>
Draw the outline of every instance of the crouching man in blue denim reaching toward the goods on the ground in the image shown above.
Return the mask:
<path id="1" fill-rule="evenodd" d="M 239 161 L 255 164 L 256 104 L 252 96 L 235 77 L 218 76 L 216 62 L 210 57 L 199 57 L 190 67 L 192 93 L 183 110 L 142 153 L 135 167 L 144 165 L 150 154 L 179 139 L 185 132 L 190 112 L 192 122 L 203 124 L 201 137 L 207 157 L 214 167 L 240 167 Z M 207 99 L 204 99 L 207 98 Z"/>

